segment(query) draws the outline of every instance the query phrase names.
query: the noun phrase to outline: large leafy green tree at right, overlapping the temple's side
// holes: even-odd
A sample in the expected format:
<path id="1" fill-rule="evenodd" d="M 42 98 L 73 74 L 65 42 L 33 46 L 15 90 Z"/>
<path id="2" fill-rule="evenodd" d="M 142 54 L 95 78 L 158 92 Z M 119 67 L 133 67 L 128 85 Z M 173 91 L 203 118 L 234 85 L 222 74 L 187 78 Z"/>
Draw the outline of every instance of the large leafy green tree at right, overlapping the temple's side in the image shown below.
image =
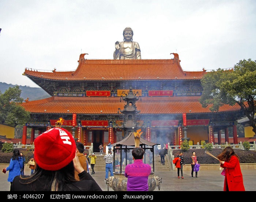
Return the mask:
<path id="1" fill-rule="evenodd" d="M 218 111 L 224 104 L 238 104 L 256 134 L 256 60 L 240 60 L 232 70 L 211 71 L 203 76 L 201 84 L 202 107 L 211 105 L 211 111 Z"/>

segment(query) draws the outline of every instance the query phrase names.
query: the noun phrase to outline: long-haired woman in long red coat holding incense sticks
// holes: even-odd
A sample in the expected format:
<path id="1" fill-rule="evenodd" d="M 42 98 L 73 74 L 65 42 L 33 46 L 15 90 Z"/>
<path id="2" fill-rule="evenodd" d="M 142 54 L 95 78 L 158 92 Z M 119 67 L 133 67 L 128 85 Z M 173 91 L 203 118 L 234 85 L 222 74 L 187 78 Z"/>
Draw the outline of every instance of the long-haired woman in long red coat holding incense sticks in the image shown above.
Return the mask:
<path id="1" fill-rule="evenodd" d="M 232 147 L 226 147 L 217 156 L 221 167 L 226 169 L 223 191 L 245 191 L 239 157 Z"/>

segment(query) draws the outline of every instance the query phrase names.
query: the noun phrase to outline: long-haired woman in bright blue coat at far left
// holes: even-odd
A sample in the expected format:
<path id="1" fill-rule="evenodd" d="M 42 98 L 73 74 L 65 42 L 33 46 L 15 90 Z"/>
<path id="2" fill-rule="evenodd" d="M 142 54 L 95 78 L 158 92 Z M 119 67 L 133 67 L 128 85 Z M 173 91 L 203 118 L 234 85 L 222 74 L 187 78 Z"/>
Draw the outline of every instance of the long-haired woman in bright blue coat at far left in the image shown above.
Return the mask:
<path id="1" fill-rule="evenodd" d="M 7 181 L 11 182 L 11 185 L 14 177 L 21 174 L 22 165 L 23 165 L 23 159 L 20 156 L 19 150 L 15 148 L 13 150 L 13 155 L 10 161 L 10 165 L 4 169 L 5 171 L 9 171 Z"/>

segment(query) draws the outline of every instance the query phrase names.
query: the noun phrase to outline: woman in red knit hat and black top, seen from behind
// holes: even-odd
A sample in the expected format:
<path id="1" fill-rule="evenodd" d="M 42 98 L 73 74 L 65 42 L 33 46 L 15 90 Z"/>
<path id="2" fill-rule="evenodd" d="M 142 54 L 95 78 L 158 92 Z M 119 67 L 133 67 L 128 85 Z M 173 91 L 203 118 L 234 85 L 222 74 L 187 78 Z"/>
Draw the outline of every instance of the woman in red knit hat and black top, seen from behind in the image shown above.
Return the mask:
<path id="1" fill-rule="evenodd" d="M 11 191 L 102 191 L 81 166 L 70 132 L 51 128 L 39 135 L 34 144 L 34 174 L 15 177 Z M 74 177 L 75 170 L 80 181 Z"/>

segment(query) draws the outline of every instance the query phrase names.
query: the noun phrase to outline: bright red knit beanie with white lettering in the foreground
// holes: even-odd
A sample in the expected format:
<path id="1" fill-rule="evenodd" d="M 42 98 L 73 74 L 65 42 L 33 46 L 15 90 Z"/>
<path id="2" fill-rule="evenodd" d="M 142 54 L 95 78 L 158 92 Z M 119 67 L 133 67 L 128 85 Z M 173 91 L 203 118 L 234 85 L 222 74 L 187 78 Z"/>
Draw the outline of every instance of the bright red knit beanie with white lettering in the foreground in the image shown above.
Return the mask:
<path id="1" fill-rule="evenodd" d="M 60 170 L 76 154 L 73 136 L 63 128 L 51 128 L 35 138 L 35 162 L 44 170 Z"/>

